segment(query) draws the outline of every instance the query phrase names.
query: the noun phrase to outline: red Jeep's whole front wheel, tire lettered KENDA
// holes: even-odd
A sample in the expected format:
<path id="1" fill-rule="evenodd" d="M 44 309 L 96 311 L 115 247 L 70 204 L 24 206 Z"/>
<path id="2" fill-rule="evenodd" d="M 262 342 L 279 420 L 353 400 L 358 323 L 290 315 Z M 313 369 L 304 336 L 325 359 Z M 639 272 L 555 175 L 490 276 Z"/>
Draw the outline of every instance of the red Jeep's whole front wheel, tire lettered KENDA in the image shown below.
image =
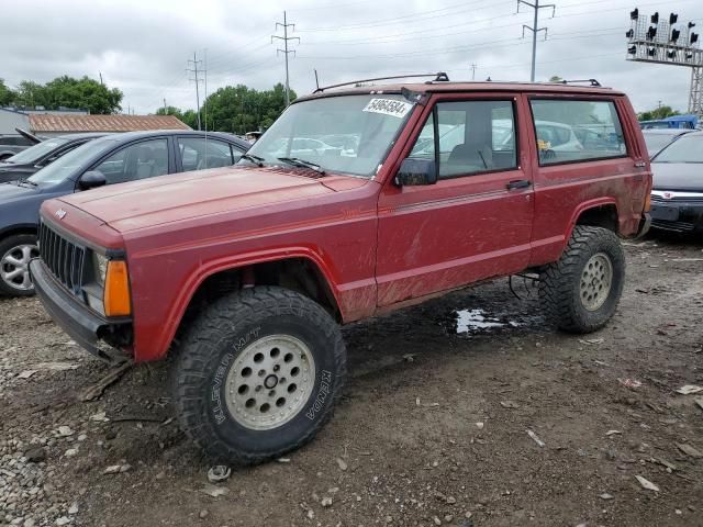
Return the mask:
<path id="1" fill-rule="evenodd" d="M 346 377 L 339 327 L 293 291 L 258 287 L 222 298 L 187 329 L 175 365 L 186 434 L 213 458 L 275 459 L 332 417 Z"/>

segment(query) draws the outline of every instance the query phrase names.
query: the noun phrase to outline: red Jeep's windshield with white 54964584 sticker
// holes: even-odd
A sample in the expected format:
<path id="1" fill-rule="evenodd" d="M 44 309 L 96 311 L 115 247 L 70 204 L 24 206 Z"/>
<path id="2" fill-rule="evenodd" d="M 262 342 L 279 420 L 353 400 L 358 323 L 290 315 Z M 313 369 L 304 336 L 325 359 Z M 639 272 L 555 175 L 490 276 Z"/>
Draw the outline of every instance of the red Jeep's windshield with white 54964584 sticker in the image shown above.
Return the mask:
<path id="1" fill-rule="evenodd" d="M 294 166 L 280 160 L 294 158 L 322 171 L 370 178 L 383 162 L 412 109 L 413 104 L 402 96 L 392 94 L 299 102 L 289 106 L 247 154 L 264 165 Z"/>

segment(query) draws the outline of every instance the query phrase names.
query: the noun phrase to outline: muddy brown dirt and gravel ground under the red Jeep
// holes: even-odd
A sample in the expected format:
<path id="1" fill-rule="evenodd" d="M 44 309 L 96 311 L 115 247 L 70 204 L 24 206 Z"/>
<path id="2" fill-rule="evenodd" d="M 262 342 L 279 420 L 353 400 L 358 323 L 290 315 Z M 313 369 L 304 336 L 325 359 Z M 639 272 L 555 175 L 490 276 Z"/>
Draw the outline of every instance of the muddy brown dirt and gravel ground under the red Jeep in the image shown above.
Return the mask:
<path id="1" fill-rule="evenodd" d="M 77 402 L 108 367 L 0 300 L 0 525 L 703 526 L 703 393 L 676 393 L 703 385 L 703 240 L 626 250 L 618 313 L 585 337 L 545 328 L 522 279 L 522 300 L 499 280 L 346 327 L 333 422 L 216 497 L 168 365 Z M 462 310 L 495 325 L 457 333 Z"/>

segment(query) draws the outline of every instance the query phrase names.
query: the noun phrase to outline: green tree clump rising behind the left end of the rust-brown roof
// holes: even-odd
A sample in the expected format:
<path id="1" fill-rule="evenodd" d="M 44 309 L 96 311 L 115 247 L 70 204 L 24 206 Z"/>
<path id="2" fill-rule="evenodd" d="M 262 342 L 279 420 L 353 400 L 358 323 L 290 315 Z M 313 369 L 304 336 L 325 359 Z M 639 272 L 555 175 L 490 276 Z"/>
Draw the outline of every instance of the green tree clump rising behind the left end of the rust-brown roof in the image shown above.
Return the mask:
<path id="1" fill-rule="evenodd" d="M 41 105 L 47 110 L 59 106 L 85 109 L 94 114 L 111 114 L 121 110 L 122 91 L 108 88 L 101 82 L 83 77 L 57 77 L 46 85 L 31 80 L 20 82 L 16 103 L 27 106 Z"/>

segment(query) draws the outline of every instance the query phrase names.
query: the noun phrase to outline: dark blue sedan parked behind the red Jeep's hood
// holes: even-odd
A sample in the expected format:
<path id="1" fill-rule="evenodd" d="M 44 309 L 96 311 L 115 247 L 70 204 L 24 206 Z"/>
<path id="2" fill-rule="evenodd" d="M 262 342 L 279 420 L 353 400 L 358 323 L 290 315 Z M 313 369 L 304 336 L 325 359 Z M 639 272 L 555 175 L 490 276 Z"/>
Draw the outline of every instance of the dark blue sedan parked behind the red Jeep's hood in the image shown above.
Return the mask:
<path id="1" fill-rule="evenodd" d="M 31 295 L 29 262 L 44 200 L 168 173 L 234 165 L 252 146 L 234 135 L 129 132 L 79 146 L 33 176 L 0 184 L 0 294 Z"/>

